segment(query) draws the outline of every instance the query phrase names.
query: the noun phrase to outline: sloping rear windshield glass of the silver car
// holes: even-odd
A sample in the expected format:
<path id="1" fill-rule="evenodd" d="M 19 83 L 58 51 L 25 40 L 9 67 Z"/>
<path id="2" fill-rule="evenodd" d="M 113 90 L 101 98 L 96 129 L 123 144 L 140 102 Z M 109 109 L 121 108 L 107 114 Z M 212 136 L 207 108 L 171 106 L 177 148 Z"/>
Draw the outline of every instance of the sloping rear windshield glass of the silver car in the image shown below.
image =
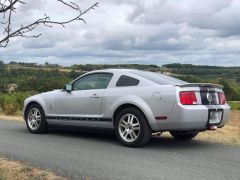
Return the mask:
<path id="1" fill-rule="evenodd" d="M 187 82 L 169 77 L 160 73 L 148 72 L 148 71 L 132 71 L 131 73 L 136 74 L 140 77 L 148 79 L 152 82 L 155 82 L 159 85 L 182 85 L 186 84 Z"/>

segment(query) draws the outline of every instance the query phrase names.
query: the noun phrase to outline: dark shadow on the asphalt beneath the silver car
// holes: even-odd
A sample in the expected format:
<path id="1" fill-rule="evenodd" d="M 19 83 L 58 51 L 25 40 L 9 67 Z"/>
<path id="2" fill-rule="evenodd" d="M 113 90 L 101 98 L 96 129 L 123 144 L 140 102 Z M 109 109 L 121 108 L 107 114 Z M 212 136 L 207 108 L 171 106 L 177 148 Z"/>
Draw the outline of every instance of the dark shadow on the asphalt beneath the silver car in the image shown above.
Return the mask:
<path id="1" fill-rule="evenodd" d="M 54 134 L 63 137 L 94 139 L 95 141 L 103 141 L 108 144 L 117 144 L 118 140 L 113 130 L 109 129 L 93 129 L 93 128 L 74 128 L 74 127 L 54 127 L 49 130 L 49 134 Z M 150 149 L 186 149 L 186 148 L 204 148 L 211 146 L 211 143 L 201 140 L 179 141 L 171 136 L 153 136 L 147 146 L 143 147 Z"/>

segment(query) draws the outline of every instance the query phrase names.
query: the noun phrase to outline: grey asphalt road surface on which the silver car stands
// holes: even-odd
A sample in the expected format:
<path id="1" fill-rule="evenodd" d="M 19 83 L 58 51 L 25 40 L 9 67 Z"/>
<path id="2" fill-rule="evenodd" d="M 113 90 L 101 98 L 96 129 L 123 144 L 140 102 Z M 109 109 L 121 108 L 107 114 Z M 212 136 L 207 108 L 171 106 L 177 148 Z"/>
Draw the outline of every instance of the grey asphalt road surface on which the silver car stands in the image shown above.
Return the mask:
<path id="1" fill-rule="evenodd" d="M 240 179 L 240 148 L 153 138 L 143 148 L 118 144 L 111 133 L 52 130 L 28 133 L 0 121 L 0 154 L 69 179 Z"/>

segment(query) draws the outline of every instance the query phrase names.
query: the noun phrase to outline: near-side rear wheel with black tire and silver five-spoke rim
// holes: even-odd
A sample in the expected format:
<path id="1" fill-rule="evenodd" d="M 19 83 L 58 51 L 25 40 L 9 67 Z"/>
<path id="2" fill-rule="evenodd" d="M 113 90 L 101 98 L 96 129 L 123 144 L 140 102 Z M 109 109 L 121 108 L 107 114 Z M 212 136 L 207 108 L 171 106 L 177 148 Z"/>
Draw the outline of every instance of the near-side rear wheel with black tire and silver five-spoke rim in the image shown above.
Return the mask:
<path id="1" fill-rule="evenodd" d="M 118 140 L 128 147 L 144 146 L 152 136 L 145 115 L 137 108 L 131 107 L 120 111 L 114 127 Z"/>

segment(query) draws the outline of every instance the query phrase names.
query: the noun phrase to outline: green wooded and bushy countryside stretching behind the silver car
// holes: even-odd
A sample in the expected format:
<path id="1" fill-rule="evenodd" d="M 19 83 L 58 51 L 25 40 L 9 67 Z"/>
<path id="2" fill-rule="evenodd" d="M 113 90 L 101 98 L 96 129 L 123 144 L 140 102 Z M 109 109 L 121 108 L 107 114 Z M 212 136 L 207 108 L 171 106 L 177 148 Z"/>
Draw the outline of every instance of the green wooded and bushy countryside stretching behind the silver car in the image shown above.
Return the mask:
<path id="1" fill-rule="evenodd" d="M 86 64 L 63 67 L 58 64 L 0 61 L 0 112 L 18 114 L 25 98 L 53 89 L 61 89 L 81 74 L 96 69 L 132 68 L 161 72 L 187 82 L 210 82 L 224 86 L 233 110 L 240 110 L 240 67 L 196 66 L 191 64 Z"/>

